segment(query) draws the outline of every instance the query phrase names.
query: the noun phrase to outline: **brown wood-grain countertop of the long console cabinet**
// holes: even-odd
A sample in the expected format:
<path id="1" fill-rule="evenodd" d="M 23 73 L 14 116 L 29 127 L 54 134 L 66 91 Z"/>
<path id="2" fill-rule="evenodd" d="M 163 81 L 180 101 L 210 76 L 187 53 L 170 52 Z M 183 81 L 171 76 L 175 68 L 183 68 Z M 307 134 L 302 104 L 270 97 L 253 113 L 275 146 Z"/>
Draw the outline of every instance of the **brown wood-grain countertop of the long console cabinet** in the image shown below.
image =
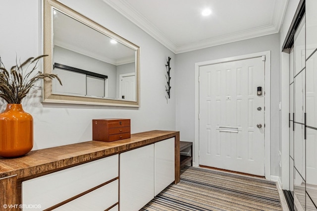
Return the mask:
<path id="1" fill-rule="evenodd" d="M 178 140 L 178 150 L 175 144 L 176 155 L 179 153 L 179 132 L 154 130 L 131 134 L 129 139 L 114 142 L 88 141 L 35 150 L 20 158 L 0 158 L 0 178 L 16 174 L 21 182 L 172 137 Z"/>

